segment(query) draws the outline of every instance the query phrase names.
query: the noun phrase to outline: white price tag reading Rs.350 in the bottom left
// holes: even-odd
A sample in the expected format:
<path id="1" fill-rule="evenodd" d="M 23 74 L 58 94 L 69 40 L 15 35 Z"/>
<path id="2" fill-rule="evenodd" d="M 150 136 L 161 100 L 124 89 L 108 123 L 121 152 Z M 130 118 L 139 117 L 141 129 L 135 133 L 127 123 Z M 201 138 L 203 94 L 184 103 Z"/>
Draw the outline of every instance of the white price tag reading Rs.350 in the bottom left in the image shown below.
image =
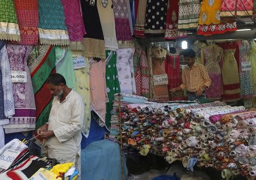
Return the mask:
<path id="1" fill-rule="evenodd" d="M 14 151 L 11 149 L 7 149 L 1 156 L 0 156 L 0 168 L 8 169 L 16 157 L 20 154 L 19 151 Z"/>

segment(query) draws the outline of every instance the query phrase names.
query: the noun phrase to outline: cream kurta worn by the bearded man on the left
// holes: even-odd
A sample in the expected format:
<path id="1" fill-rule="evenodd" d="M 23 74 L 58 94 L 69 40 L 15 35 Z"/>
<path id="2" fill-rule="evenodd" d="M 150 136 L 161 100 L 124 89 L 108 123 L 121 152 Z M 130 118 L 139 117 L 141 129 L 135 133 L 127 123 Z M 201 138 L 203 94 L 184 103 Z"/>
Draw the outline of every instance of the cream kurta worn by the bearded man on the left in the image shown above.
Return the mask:
<path id="1" fill-rule="evenodd" d="M 84 119 L 82 107 L 84 107 L 82 97 L 73 90 L 63 102 L 55 97 L 48 126 L 48 130 L 53 130 L 55 136 L 43 142 L 43 153 L 50 158 L 56 158 L 61 164 L 75 163 L 79 172 L 81 172 L 81 128 Z"/>

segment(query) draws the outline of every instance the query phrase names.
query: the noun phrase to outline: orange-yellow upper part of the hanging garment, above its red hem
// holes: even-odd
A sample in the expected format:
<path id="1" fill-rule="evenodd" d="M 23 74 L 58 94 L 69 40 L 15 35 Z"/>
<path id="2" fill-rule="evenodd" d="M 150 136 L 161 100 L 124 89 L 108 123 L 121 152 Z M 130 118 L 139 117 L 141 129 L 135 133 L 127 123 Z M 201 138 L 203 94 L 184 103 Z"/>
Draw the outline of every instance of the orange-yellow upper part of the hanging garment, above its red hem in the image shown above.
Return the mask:
<path id="1" fill-rule="evenodd" d="M 199 16 L 199 24 L 220 24 L 220 8 L 221 0 L 203 0 Z"/>

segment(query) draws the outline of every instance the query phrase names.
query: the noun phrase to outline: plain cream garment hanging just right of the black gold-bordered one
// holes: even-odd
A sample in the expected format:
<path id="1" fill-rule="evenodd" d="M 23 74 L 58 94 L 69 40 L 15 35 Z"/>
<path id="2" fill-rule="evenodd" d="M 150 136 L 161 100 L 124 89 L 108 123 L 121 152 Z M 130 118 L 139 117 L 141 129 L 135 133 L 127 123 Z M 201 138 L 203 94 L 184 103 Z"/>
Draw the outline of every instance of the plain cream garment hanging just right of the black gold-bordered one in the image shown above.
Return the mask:
<path id="1" fill-rule="evenodd" d="M 105 49 L 117 50 L 118 43 L 117 36 L 115 35 L 115 20 L 112 1 L 108 1 L 108 3 L 97 1 L 97 7 L 105 40 Z"/>

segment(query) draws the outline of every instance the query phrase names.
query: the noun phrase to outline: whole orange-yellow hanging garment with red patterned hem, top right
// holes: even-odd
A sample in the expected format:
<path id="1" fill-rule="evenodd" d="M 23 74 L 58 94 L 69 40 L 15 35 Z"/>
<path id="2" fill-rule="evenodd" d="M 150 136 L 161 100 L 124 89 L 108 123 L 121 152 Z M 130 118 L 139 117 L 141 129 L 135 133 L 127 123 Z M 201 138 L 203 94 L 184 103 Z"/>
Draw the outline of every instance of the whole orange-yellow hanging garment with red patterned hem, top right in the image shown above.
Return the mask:
<path id="1" fill-rule="evenodd" d="M 220 8 L 221 0 L 203 0 L 197 27 L 198 35 L 213 35 L 237 30 L 236 21 L 226 23 L 221 21 Z"/>

